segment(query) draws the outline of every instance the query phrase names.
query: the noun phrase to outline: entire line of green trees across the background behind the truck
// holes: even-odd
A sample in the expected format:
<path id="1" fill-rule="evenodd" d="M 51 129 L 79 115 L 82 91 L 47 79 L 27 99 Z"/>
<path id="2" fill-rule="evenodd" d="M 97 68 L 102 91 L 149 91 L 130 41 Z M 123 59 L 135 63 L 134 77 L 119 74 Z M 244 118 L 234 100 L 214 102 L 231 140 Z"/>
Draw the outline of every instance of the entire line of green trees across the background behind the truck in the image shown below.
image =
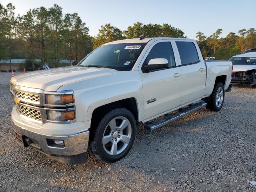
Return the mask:
<path id="1" fill-rule="evenodd" d="M 256 30 L 242 29 L 238 35 L 230 32 L 220 38 L 222 29 L 209 37 L 196 33 L 198 45 L 204 57 L 228 59 L 236 53 L 256 47 Z M 102 25 L 96 36 L 89 35 L 89 28 L 77 13 L 62 14 L 62 8 L 54 4 L 50 8 L 34 8 L 23 16 L 15 16 L 15 6 L 0 4 L 0 60 L 26 58 L 60 66 L 60 60 L 70 60 L 77 64 L 84 56 L 98 46 L 125 38 L 178 37 L 186 38 L 184 32 L 170 24 L 134 23 L 127 30 L 120 30 L 110 24 Z"/>

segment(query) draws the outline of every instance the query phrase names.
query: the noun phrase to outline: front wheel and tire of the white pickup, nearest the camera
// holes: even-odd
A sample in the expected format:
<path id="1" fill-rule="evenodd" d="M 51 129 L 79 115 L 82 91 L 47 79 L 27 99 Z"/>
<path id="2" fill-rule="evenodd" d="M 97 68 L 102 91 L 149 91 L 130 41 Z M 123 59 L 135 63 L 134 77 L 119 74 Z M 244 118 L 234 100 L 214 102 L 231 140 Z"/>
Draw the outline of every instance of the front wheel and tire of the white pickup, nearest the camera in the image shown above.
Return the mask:
<path id="1" fill-rule="evenodd" d="M 116 108 L 100 120 L 90 150 L 93 156 L 105 163 L 114 163 L 128 154 L 136 136 L 136 121 L 125 108 Z"/>

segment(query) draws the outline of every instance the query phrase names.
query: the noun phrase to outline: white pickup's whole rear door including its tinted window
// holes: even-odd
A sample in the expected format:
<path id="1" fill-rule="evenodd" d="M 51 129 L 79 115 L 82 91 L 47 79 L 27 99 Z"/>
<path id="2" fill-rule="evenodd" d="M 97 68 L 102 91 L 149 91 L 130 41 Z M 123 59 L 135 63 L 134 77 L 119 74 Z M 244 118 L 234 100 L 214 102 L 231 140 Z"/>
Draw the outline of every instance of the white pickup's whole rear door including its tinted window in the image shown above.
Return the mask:
<path id="1" fill-rule="evenodd" d="M 182 70 L 181 105 L 202 98 L 206 88 L 206 66 L 192 40 L 175 40 Z M 199 54 L 200 56 L 199 56 Z"/>

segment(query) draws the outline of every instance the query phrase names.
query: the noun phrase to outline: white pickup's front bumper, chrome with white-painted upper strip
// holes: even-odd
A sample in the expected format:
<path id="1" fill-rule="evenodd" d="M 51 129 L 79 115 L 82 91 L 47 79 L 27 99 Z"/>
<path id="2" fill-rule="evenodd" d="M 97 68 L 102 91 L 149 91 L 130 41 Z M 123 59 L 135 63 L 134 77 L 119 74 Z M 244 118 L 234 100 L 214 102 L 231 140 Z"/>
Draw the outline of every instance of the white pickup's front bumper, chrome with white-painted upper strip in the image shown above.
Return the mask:
<path id="1" fill-rule="evenodd" d="M 81 127 L 84 126 L 84 124 L 81 124 L 81 122 L 71 124 L 46 123 L 48 124 L 48 127 L 43 129 L 46 124 L 36 124 L 22 118 L 16 112 L 15 107 L 12 111 L 11 122 L 14 131 L 22 136 L 25 146 L 30 146 L 46 154 L 48 157 L 64 163 L 74 164 L 86 161 L 89 130 L 81 130 Z M 34 130 L 31 128 L 32 126 L 35 128 Z M 55 130 L 56 133 L 56 127 L 58 128 L 58 133 L 60 134 L 51 134 L 50 131 L 49 134 L 45 134 L 46 129 L 48 128 L 52 128 L 52 130 Z M 79 128 L 81 131 L 71 134 L 71 127 L 73 127 L 74 130 Z M 69 130 L 69 133 L 66 133 L 67 130 Z M 49 142 L 52 140 L 62 140 L 64 142 L 64 146 L 53 145 Z"/>

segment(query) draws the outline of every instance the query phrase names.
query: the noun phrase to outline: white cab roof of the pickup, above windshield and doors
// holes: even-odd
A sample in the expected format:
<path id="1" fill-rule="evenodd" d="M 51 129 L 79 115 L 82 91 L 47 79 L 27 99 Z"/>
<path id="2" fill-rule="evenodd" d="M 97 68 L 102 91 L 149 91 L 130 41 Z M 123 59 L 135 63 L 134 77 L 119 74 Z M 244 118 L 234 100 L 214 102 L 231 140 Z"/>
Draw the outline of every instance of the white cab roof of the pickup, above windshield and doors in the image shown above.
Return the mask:
<path id="1" fill-rule="evenodd" d="M 117 44 L 117 43 L 147 43 L 150 40 L 193 40 L 193 39 L 188 39 L 188 38 L 172 38 L 172 37 L 150 37 L 150 38 L 143 38 L 142 40 L 140 40 L 140 38 L 134 38 L 134 39 L 122 39 L 122 40 L 117 40 L 117 41 L 112 41 L 112 42 L 108 42 L 105 43 L 104 45 L 109 45 L 109 44 Z"/>

